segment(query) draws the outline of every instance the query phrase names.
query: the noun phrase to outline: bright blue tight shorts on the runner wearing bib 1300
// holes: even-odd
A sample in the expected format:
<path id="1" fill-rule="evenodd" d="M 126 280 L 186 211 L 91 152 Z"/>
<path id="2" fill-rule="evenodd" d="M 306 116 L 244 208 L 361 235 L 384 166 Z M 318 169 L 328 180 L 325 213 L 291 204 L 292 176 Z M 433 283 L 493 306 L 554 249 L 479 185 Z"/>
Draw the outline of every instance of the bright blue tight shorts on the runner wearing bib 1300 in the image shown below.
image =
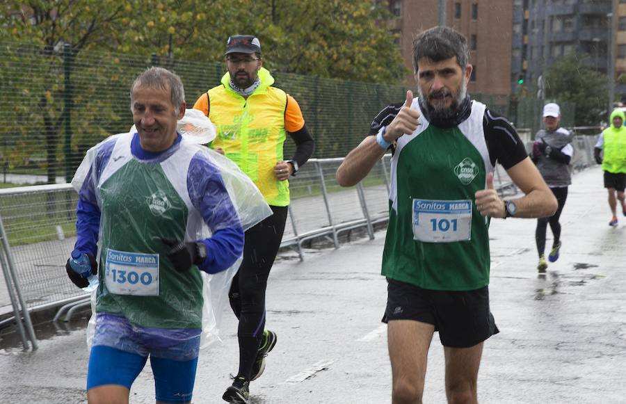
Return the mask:
<path id="1" fill-rule="evenodd" d="M 127 389 L 141 373 L 147 356 L 128 353 L 109 346 L 93 346 L 89 355 L 87 389 L 103 385 L 121 385 Z M 193 394 L 198 357 L 186 361 L 150 357 L 157 390 L 157 401 L 189 403 Z"/>

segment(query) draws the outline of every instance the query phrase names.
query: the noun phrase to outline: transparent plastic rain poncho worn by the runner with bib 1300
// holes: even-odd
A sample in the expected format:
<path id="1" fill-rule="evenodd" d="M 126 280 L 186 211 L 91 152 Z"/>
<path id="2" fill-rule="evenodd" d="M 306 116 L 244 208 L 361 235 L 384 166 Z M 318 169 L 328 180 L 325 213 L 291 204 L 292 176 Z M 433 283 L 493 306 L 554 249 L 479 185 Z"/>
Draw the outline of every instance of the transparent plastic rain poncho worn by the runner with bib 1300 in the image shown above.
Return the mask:
<path id="1" fill-rule="evenodd" d="M 225 307 L 230 283 L 239 268 L 241 257 L 230 268 L 220 273 L 208 274 L 191 268 L 187 273 L 179 274 L 171 268 L 169 260 L 165 258 L 167 248 L 162 245 L 159 237 L 172 236 L 174 233 L 178 235 L 178 239 L 195 241 L 211 236 L 211 230 L 204 223 L 202 213 L 194 207 L 192 191 L 188 191 L 188 188 L 191 190 L 195 188 L 191 179 L 195 178 L 193 174 L 197 170 L 194 168 L 190 171 L 192 167 L 202 167 L 220 175 L 227 195 L 219 193 L 221 202 L 216 203 L 215 211 L 224 209 L 224 206 L 228 207 L 230 212 L 234 209 L 236 212 L 234 218 L 235 220 L 239 218 L 244 230 L 270 216 L 271 209 L 255 184 L 232 161 L 202 146 L 215 137 L 215 129 L 209 118 L 200 111 L 187 110 L 184 118 L 179 120 L 177 129 L 182 135 L 179 145 L 172 147 L 157 159 L 149 161 L 139 161 L 131 154 L 134 127 L 127 134 L 111 136 L 87 152 L 72 179 L 72 186 L 77 192 L 81 191 L 83 184 L 86 184 L 86 188 L 89 185 L 93 187 L 92 194 L 100 210 L 98 234 L 100 285 L 92 293 L 94 315 L 88 325 L 88 346 L 93 343 L 134 352 L 134 344 L 124 340 L 128 339 L 129 332 L 138 332 L 141 339 L 157 341 L 157 346 L 179 347 L 181 352 L 170 352 L 167 355 L 175 355 L 173 359 L 182 359 L 198 354 L 198 339 L 200 348 L 220 340 L 220 314 Z M 109 158 L 103 163 L 103 150 L 107 148 Z M 192 162 L 195 165 L 192 165 Z M 98 175 L 92 175 L 92 172 L 98 172 Z M 158 190 L 156 193 L 153 192 L 155 189 Z M 211 188 L 207 187 L 207 191 L 210 194 Z M 206 191 L 203 192 L 200 195 L 207 194 Z M 150 211 L 146 211 L 147 213 L 137 214 L 141 209 L 148 208 Z M 211 218 L 214 232 L 220 229 L 220 220 L 223 220 L 215 216 Z M 232 216 L 229 217 L 230 221 L 224 219 L 224 227 L 232 227 Z M 124 236 L 126 233 L 128 236 Z M 142 236 L 138 236 L 139 234 Z M 111 251 L 117 256 L 123 256 L 122 259 L 147 262 L 148 264 L 145 264 L 147 272 L 158 268 L 152 275 L 158 274 L 154 279 L 159 278 L 160 284 L 157 284 L 156 289 L 152 284 L 149 284 L 149 287 L 142 286 L 141 282 L 137 282 L 139 278 L 135 274 L 134 284 L 147 289 L 134 290 L 130 294 L 140 296 L 128 298 L 128 292 L 120 291 L 121 286 L 115 283 L 117 281 L 114 275 L 111 280 L 114 268 L 111 262 L 115 261 L 113 257 L 116 257 Z M 112 258 L 105 260 L 103 255 Z M 157 264 L 154 264 L 155 260 Z M 105 262 L 106 265 L 111 265 L 108 272 Z M 143 270 L 142 264 L 137 265 L 131 268 L 138 268 L 136 273 L 139 273 Z M 128 274 L 130 282 L 130 272 Z M 127 282 L 125 286 L 131 285 Z M 201 291 L 202 298 L 192 296 L 191 299 L 186 299 L 187 295 L 184 293 L 181 296 L 181 291 L 188 289 L 193 290 L 195 295 L 200 295 Z M 109 310 L 111 302 L 114 303 L 114 307 L 120 308 L 121 312 Z M 187 309 L 188 307 L 192 309 Z M 97 320 L 98 332 L 95 334 L 97 312 L 113 312 L 120 317 L 113 316 L 111 321 L 110 316 L 100 316 Z M 119 319 L 121 321 L 118 321 Z M 137 353 L 145 355 L 143 352 Z"/>

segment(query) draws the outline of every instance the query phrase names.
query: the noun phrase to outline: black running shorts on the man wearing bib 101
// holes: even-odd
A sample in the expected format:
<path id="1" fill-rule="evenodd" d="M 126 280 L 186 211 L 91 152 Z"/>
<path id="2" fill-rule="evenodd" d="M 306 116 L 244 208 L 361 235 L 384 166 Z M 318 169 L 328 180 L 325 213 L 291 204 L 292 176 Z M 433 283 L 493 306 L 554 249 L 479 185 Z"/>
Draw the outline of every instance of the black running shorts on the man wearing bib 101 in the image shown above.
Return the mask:
<path id="1" fill-rule="evenodd" d="M 499 332 L 489 311 L 489 289 L 433 291 L 387 278 L 383 323 L 413 320 L 435 325 L 443 346 L 470 348 Z"/>

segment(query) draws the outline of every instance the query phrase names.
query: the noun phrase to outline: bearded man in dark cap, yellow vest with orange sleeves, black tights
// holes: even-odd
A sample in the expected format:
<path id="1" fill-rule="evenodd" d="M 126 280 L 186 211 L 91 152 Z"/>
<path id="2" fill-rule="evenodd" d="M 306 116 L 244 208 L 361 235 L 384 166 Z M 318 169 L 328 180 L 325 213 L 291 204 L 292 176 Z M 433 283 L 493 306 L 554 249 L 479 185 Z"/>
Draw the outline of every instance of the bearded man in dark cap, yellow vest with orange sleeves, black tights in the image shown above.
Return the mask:
<path id="1" fill-rule="evenodd" d="M 239 165 L 270 205 L 273 215 L 246 231 L 243 261 L 230 289 L 230 305 L 239 318 L 239 372 L 223 399 L 246 403 L 249 383 L 265 368 L 276 344 L 265 327 L 267 278 L 278 253 L 289 205 L 289 181 L 313 153 L 313 139 L 300 106 L 262 67 L 261 43 L 252 35 L 228 38 L 221 84 L 204 93 L 193 108 L 211 118 L 216 139 L 209 145 Z M 286 134 L 296 143 L 291 160 L 282 154 Z"/>

